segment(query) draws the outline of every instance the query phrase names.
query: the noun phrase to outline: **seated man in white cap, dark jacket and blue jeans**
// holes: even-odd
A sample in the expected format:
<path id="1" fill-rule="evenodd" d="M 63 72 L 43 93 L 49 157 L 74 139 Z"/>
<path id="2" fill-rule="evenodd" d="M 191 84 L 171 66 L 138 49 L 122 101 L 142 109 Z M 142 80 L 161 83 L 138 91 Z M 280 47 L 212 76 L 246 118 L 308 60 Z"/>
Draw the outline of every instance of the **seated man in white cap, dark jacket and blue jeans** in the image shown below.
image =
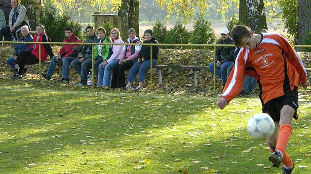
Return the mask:
<path id="1" fill-rule="evenodd" d="M 229 30 L 222 29 L 220 32 L 221 39 L 217 44 L 233 44 L 232 38 L 229 37 Z M 216 48 L 216 76 L 221 78 L 223 87 L 227 82 L 227 68 L 233 63 L 234 47 L 217 47 Z M 209 70 L 214 72 L 214 63 L 208 65 Z"/>

